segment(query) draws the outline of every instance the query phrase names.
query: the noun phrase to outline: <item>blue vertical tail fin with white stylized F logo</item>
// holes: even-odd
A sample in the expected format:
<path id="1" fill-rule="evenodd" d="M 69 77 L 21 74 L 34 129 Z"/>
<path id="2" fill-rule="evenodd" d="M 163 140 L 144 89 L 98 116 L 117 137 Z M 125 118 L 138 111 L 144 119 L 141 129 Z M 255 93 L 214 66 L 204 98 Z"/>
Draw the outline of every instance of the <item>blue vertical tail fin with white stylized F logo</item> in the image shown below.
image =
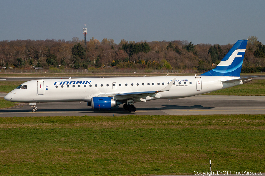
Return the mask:
<path id="1" fill-rule="evenodd" d="M 247 42 L 248 40 L 238 40 L 221 60 L 221 62 L 216 66 L 216 68 L 201 75 L 239 77 Z"/>

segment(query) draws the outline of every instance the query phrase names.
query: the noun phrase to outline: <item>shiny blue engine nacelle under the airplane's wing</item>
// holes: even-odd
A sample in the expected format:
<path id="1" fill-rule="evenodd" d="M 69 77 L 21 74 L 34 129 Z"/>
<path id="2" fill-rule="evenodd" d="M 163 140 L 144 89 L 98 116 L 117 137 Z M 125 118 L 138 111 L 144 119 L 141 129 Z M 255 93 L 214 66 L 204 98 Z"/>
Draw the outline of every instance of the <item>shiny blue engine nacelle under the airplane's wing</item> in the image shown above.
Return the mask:
<path id="1" fill-rule="evenodd" d="M 116 102 L 116 100 L 111 97 L 91 98 L 92 109 L 111 109 L 112 107 L 115 107 L 118 104 L 122 104 L 122 103 Z"/>

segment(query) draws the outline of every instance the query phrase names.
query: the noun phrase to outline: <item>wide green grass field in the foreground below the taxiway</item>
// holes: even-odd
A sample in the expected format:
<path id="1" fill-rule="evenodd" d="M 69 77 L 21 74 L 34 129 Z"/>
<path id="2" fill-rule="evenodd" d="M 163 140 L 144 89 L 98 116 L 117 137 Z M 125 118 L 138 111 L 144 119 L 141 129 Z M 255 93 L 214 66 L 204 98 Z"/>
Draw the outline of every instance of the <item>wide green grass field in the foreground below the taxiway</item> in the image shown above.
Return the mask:
<path id="1" fill-rule="evenodd" d="M 265 116 L 0 118 L 1 175 L 265 171 Z"/>

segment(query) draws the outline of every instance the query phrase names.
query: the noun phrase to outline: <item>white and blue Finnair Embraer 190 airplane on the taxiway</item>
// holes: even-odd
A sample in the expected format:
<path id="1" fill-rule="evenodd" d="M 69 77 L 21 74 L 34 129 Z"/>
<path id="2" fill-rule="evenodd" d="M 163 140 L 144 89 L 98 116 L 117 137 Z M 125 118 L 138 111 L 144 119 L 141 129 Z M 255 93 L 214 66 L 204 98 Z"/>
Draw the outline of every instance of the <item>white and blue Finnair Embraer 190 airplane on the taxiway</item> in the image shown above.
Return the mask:
<path id="1" fill-rule="evenodd" d="M 36 103 L 65 101 L 85 101 L 97 110 L 124 104 L 125 110 L 135 112 L 137 102 L 170 101 L 251 81 L 253 77 L 240 77 L 246 45 L 247 40 L 238 40 L 216 68 L 199 76 L 39 79 L 21 84 L 4 99 L 27 102 L 32 112 L 37 110 Z"/>

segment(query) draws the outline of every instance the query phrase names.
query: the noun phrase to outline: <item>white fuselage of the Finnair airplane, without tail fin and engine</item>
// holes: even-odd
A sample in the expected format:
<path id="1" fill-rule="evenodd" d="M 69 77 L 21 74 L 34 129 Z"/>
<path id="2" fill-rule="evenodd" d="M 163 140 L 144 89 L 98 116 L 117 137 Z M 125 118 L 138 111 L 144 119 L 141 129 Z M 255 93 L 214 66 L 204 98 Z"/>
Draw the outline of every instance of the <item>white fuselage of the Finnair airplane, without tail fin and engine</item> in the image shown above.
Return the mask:
<path id="1" fill-rule="evenodd" d="M 176 78 L 175 83 L 169 91 L 159 92 L 153 97 L 137 96 L 146 101 L 158 98 L 178 99 L 242 84 L 242 81 L 223 83 L 221 81 L 239 78 L 223 76 L 39 79 L 23 83 L 22 85 L 27 85 L 27 88 L 14 89 L 6 95 L 5 99 L 14 102 L 91 102 L 92 97 L 102 96 L 125 102 L 131 97 L 115 97 L 115 94 L 158 91 L 165 88 L 174 78 Z"/>

